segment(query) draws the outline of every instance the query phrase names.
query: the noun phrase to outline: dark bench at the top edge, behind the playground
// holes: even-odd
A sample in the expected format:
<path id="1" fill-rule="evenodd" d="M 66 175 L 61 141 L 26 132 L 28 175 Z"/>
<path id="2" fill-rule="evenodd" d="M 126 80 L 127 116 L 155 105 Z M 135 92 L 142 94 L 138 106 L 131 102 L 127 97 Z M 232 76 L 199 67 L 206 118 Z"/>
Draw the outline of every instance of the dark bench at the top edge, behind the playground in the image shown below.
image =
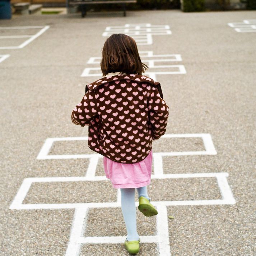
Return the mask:
<path id="1" fill-rule="evenodd" d="M 126 4 L 137 3 L 137 0 L 85 0 L 85 1 L 70 1 L 69 5 L 81 6 L 82 17 L 86 15 L 86 5 L 90 4 L 122 4 L 124 10 L 124 16 L 126 16 Z"/>

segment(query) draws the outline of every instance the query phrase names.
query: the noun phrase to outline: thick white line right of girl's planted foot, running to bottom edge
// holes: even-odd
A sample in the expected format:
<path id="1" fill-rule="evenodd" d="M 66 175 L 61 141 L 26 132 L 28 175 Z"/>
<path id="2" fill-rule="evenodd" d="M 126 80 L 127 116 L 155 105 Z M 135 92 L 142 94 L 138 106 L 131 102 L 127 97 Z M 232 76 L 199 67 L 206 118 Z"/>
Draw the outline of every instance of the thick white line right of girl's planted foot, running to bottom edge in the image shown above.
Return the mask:
<path id="1" fill-rule="evenodd" d="M 157 211 L 157 234 L 159 255 L 171 256 L 166 206 L 157 205 Z"/>

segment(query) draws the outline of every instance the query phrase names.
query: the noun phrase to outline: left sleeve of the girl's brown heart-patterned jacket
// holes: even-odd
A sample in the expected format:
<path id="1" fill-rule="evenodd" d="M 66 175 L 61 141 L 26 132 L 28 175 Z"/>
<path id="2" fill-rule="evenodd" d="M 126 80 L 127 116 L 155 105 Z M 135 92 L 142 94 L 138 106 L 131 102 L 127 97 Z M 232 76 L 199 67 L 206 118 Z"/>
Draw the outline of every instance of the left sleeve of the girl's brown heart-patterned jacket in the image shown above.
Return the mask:
<path id="1" fill-rule="evenodd" d="M 94 90 L 88 90 L 82 101 L 76 105 L 71 113 L 71 121 L 75 125 L 84 127 L 90 125 L 94 116 L 98 115 Z"/>

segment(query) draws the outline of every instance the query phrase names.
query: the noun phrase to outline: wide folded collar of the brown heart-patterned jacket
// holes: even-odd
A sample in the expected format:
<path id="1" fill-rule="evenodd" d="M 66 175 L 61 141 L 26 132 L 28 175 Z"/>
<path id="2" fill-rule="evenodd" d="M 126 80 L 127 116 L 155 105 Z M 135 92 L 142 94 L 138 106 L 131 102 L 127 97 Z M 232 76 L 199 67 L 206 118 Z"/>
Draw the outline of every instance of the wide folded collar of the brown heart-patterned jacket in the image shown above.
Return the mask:
<path id="1" fill-rule="evenodd" d="M 159 82 L 155 82 L 152 78 L 149 78 L 146 75 L 137 75 L 137 74 L 118 74 L 118 75 L 110 75 L 110 76 L 105 76 L 99 80 L 96 80 L 93 83 L 90 83 L 87 85 L 89 90 L 95 90 L 96 88 L 98 88 L 100 85 L 102 84 L 106 84 L 112 81 L 118 81 L 118 80 L 132 80 L 135 82 L 147 82 L 147 83 L 151 83 L 155 86 L 159 85 Z"/>

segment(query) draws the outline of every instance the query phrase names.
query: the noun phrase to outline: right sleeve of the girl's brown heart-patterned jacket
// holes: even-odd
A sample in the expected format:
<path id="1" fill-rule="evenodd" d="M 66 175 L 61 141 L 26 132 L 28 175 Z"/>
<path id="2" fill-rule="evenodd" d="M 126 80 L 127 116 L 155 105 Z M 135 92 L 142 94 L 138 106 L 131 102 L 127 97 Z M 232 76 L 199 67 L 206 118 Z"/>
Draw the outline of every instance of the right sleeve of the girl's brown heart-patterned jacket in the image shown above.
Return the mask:
<path id="1" fill-rule="evenodd" d="M 154 86 L 148 90 L 149 121 L 153 129 L 153 140 L 159 139 L 166 132 L 169 107 L 161 98 L 159 91 Z"/>

